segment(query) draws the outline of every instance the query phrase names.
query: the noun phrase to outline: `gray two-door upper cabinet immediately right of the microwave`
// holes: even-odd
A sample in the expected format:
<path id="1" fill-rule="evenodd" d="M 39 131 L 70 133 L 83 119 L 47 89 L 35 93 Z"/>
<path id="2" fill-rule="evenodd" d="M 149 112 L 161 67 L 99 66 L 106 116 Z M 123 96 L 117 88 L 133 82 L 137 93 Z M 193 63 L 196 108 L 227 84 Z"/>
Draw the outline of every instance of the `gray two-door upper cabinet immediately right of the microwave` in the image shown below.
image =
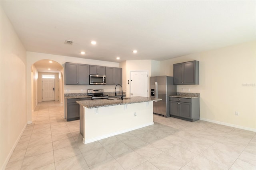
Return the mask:
<path id="1" fill-rule="evenodd" d="M 122 85 L 122 68 L 106 67 L 106 85 Z"/>

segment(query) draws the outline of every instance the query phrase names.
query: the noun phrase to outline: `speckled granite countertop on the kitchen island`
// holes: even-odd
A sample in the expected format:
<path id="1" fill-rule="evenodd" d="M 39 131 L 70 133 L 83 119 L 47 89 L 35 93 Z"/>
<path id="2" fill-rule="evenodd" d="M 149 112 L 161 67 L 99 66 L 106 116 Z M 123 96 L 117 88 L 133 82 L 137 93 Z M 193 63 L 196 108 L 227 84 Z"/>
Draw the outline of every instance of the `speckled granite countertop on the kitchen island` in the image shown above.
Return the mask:
<path id="1" fill-rule="evenodd" d="M 126 105 L 132 103 L 142 103 L 147 101 L 160 101 L 162 99 L 155 99 L 152 97 L 128 97 L 124 100 L 108 100 L 108 99 L 98 99 L 98 100 L 85 100 L 85 101 L 76 101 L 76 103 L 87 107 L 88 109 L 98 108 L 98 107 L 108 107 L 116 105 Z"/>

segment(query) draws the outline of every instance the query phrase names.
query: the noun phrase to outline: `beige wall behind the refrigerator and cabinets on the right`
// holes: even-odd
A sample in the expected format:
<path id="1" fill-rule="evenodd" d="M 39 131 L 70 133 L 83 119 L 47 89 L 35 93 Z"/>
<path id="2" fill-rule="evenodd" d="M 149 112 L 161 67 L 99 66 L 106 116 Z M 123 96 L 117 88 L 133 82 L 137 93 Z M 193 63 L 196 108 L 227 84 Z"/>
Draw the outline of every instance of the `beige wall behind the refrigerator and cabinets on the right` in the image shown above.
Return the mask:
<path id="1" fill-rule="evenodd" d="M 174 63 L 192 60 L 200 61 L 200 85 L 177 85 L 177 91 L 200 93 L 200 119 L 256 131 L 256 43 L 168 59 L 161 73 L 173 76 Z"/>

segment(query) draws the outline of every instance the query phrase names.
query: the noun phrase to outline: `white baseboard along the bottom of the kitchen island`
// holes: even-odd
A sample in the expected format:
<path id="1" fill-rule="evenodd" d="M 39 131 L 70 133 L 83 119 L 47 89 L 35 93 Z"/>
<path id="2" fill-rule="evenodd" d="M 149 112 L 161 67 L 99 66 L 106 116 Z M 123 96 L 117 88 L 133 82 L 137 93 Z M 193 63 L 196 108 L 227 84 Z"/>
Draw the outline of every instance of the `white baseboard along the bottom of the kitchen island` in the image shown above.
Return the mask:
<path id="1" fill-rule="evenodd" d="M 101 139 L 104 139 L 104 138 L 108 138 L 108 137 L 111 137 L 111 136 L 115 136 L 115 135 L 118 135 L 118 134 L 129 132 L 129 131 L 132 131 L 132 130 L 136 130 L 138 128 L 147 127 L 149 125 L 154 125 L 154 122 L 147 123 L 147 124 L 144 124 L 144 125 L 140 125 L 140 126 L 134 127 L 134 128 L 128 128 L 128 129 L 121 130 L 121 131 L 118 131 L 118 132 L 113 132 L 113 133 L 110 133 L 110 134 L 105 134 L 105 135 L 99 136 L 97 138 L 92 138 L 92 139 L 89 139 L 89 140 L 84 140 L 84 138 L 83 138 L 83 143 L 87 144 L 87 143 L 90 143 L 90 142 L 95 142 L 97 140 L 101 140 Z"/>

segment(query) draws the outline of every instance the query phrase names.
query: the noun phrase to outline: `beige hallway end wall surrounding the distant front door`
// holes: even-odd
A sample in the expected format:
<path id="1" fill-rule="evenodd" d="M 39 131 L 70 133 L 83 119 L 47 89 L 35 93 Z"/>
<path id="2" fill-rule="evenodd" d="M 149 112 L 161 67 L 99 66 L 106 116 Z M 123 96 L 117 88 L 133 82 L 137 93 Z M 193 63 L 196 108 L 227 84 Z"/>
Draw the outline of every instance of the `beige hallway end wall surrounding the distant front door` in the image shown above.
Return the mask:
<path id="1" fill-rule="evenodd" d="M 42 101 L 42 75 L 54 75 L 55 76 L 55 99 L 56 101 L 59 100 L 59 73 L 44 73 L 44 72 L 38 72 L 38 101 Z"/>

